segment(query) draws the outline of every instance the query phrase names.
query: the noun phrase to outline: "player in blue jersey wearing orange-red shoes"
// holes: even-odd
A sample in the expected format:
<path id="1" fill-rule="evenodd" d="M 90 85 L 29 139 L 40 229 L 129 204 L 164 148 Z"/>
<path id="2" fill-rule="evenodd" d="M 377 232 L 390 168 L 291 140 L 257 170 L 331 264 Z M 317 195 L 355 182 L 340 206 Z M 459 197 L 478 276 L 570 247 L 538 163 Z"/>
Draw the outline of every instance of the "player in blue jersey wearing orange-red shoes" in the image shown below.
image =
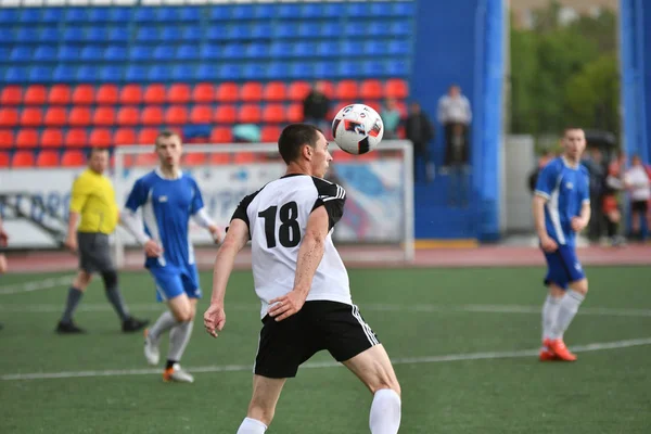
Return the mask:
<path id="1" fill-rule="evenodd" d="M 540 360 L 574 361 L 576 356 L 563 342 L 588 292 L 588 280 L 576 256 L 576 233 L 590 220 L 587 169 L 580 165 L 586 136 L 580 128 L 563 132 L 564 152 L 552 159 L 538 177 L 533 214 L 540 248 L 547 259 L 545 283 L 549 294 L 542 306 Z"/>

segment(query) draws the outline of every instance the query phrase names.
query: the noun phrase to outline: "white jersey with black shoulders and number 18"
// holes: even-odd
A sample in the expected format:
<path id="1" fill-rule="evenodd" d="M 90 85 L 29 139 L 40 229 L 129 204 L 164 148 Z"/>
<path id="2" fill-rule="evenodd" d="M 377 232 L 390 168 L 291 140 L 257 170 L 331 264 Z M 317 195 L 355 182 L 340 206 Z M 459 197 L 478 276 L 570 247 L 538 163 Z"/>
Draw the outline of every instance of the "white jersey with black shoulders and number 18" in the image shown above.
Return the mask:
<path id="1" fill-rule="evenodd" d="M 301 240 L 310 213 L 319 206 L 328 210 L 330 231 L 307 301 L 353 304 L 348 272 L 332 243 L 332 228 L 344 213 L 345 201 L 342 187 L 308 175 L 284 176 L 242 200 L 231 220 L 248 225 L 260 317 L 267 315 L 269 301 L 293 290 Z"/>

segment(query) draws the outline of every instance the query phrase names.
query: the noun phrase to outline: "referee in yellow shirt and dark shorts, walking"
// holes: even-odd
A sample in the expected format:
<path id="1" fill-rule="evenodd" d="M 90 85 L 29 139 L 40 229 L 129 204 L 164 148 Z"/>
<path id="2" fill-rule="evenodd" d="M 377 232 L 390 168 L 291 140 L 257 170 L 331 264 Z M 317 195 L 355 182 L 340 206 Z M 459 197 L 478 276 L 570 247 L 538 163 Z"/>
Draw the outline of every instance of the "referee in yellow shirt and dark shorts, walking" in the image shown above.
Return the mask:
<path id="1" fill-rule="evenodd" d="M 108 151 L 94 148 L 90 151 L 88 169 L 73 183 L 65 245 L 73 252 L 79 252 L 79 271 L 68 290 L 65 310 L 56 326 L 58 333 L 85 332 L 73 321 L 73 314 L 94 272 L 102 275 L 106 297 L 119 316 L 124 332 L 135 332 L 149 323 L 149 320 L 129 315 L 117 288 L 108 235 L 117 226 L 119 212 L 111 180 L 104 176 L 107 167 Z"/>

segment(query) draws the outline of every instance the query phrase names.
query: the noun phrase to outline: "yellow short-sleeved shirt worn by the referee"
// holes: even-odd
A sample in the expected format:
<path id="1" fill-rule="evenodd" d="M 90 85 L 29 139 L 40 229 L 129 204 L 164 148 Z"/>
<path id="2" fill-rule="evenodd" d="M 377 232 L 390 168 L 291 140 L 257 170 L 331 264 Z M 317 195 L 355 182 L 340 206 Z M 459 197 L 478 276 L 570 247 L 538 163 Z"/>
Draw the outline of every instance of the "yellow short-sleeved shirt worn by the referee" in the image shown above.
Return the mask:
<path id="1" fill-rule="evenodd" d="M 91 169 L 84 170 L 73 183 L 71 212 L 81 215 L 77 231 L 112 233 L 118 209 L 111 180 Z"/>

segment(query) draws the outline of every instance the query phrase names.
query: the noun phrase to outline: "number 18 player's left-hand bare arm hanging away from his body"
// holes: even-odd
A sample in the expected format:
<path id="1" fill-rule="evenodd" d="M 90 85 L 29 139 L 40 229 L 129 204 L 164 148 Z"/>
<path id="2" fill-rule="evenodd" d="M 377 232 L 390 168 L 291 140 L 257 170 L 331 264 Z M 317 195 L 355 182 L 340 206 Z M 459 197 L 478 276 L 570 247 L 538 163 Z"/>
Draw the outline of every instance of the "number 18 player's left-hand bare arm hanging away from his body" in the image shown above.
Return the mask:
<path id="1" fill-rule="evenodd" d="M 217 337 L 217 332 L 220 332 L 226 324 L 224 310 L 226 286 L 233 270 L 235 256 L 246 245 L 246 242 L 248 242 L 248 226 L 244 220 L 233 219 L 215 258 L 213 295 L 210 296 L 210 306 L 204 314 L 204 327 L 213 337 Z"/>

